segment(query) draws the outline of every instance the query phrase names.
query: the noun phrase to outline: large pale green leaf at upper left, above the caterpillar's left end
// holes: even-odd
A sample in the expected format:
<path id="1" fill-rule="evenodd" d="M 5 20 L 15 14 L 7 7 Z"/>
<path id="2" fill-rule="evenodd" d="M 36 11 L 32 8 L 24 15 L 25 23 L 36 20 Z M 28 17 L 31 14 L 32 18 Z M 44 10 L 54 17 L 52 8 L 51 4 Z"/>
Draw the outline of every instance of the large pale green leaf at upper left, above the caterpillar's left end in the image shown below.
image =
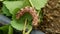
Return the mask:
<path id="1" fill-rule="evenodd" d="M 14 10 L 16 8 L 21 8 L 23 5 L 23 1 L 4 1 L 3 2 L 5 4 L 5 6 L 9 9 L 9 12 L 11 14 L 14 14 L 13 12 L 15 12 Z"/>

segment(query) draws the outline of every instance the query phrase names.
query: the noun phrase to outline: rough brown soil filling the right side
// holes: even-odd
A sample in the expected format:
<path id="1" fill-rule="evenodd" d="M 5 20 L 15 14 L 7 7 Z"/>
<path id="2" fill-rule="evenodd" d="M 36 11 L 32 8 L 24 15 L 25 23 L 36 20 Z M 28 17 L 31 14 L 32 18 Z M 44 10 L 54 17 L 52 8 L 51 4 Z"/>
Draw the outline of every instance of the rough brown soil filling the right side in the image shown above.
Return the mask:
<path id="1" fill-rule="evenodd" d="M 60 34 L 60 0 L 49 0 L 43 11 L 40 29 L 45 34 Z"/>

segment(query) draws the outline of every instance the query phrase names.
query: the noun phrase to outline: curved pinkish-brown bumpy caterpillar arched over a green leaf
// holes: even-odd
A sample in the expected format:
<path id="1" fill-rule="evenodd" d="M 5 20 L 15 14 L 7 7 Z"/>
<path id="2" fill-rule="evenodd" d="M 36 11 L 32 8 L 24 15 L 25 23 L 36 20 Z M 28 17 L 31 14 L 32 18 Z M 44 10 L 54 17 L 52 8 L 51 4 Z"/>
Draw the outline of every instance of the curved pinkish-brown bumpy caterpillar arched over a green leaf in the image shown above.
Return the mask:
<path id="1" fill-rule="evenodd" d="M 20 11 L 17 12 L 16 14 L 16 19 L 19 19 L 21 16 L 23 16 L 24 13 L 30 13 L 33 17 L 33 21 L 32 21 L 32 25 L 33 26 L 38 26 L 38 15 L 37 15 L 37 12 L 34 8 L 32 7 L 25 7 L 25 8 L 22 8 Z"/>

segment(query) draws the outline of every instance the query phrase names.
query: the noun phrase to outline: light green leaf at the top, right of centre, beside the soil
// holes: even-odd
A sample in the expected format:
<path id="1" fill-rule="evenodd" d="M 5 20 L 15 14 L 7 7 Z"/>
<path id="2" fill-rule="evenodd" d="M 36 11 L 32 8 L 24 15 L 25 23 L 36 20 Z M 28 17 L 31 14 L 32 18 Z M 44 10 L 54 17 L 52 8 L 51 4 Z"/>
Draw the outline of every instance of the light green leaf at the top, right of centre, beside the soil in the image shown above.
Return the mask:
<path id="1" fill-rule="evenodd" d="M 45 6 L 48 0 L 29 0 L 32 7 L 35 7 L 37 10 L 40 10 L 42 7 Z"/>

